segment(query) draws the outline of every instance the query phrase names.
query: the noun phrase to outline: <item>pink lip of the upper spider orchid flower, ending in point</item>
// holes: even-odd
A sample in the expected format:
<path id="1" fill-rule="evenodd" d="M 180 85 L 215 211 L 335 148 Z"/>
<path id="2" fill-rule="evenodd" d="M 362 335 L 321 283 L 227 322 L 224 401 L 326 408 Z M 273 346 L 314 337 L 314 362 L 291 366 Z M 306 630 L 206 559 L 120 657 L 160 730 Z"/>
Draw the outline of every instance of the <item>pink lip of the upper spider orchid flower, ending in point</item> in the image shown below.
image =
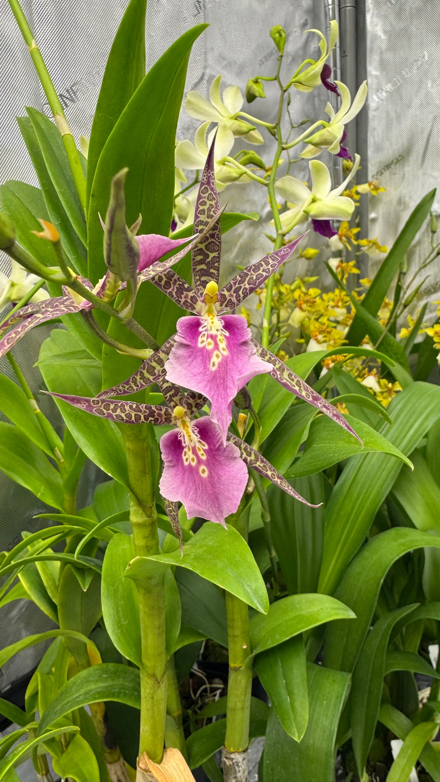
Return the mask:
<path id="1" fill-rule="evenodd" d="M 181 317 L 166 364 L 168 380 L 193 389 L 211 401 L 211 418 L 226 441 L 233 418 L 233 398 L 269 364 L 257 356 L 251 329 L 242 315 L 214 313 Z"/>

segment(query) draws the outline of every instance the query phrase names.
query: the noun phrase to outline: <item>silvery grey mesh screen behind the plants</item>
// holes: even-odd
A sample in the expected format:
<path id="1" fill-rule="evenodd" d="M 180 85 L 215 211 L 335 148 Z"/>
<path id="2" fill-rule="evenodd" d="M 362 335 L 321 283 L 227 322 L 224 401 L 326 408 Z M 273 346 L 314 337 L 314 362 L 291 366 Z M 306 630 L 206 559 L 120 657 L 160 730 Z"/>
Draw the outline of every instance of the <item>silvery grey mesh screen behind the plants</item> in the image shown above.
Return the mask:
<path id="1" fill-rule="evenodd" d="M 106 56 L 126 5 L 126 0 L 77 0 L 67 5 L 57 0 L 23 0 L 23 10 L 77 139 L 90 132 Z M 289 35 L 284 62 L 285 73 L 289 74 L 295 63 L 316 56 L 316 37 L 304 33 L 311 27 L 328 30 L 327 5 L 324 0 L 149 0 L 147 66 L 189 27 L 208 22 L 210 27 L 193 47 L 187 89 L 197 88 L 207 95 L 209 84 L 219 73 L 223 74 L 225 86 L 240 84 L 244 88 L 249 77 L 273 72 L 276 50 L 269 29 L 283 24 Z M 377 208 L 380 201 L 374 202 L 371 197 L 370 235 L 378 235 L 381 243 L 391 245 L 413 206 L 437 184 L 439 41 L 438 32 L 432 30 L 440 30 L 440 9 L 436 0 L 416 0 L 412 4 L 402 0 L 369 0 L 366 12 L 369 172 L 370 179 L 379 178 L 388 189 L 384 210 Z M 0 183 L 13 178 L 36 185 L 15 117 L 24 113 L 25 106 L 46 113 L 48 107 L 7 0 L 0 0 L 0 20 Z M 277 96 L 272 100 L 269 88 L 266 93 L 264 106 L 262 101 L 255 102 L 251 111 L 261 115 L 264 112 L 265 117 L 272 113 L 275 117 Z M 292 114 L 300 121 L 319 113 L 326 92 L 321 88 L 308 94 L 294 92 L 292 97 Z M 366 121 L 365 110 L 363 117 Z M 179 138 L 192 138 L 196 124 L 182 112 Z M 267 160 L 270 154 L 269 150 Z M 362 166 L 361 181 L 367 178 L 365 160 Z M 299 164 L 294 173 L 300 179 L 307 178 L 307 164 Z M 268 204 L 258 186 L 229 188 L 222 198 L 228 199 L 229 210 L 258 211 L 263 223 L 269 221 Z M 267 252 L 264 230 L 261 221 L 257 225 L 243 223 L 225 237 L 225 274 L 235 264 L 246 265 Z M 425 239 L 417 242 L 410 263 L 426 251 Z M 376 267 L 377 261 L 372 259 L 371 274 Z M 8 268 L 7 258 L 0 257 L 0 269 Z M 306 267 L 295 271 L 304 274 Z M 319 271 L 316 262 L 309 264 L 307 271 Z M 423 293 L 437 298 L 433 296 L 437 284 L 438 267 L 431 268 Z M 16 358 L 22 366 L 33 367 L 39 346 L 49 332 L 49 326 L 38 328 L 17 346 Z M 5 359 L 1 369 L 9 374 Z M 38 368 L 31 369 L 28 380 L 34 391 L 41 388 Z M 52 421 L 60 424 L 50 400 L 41 400 L 41 407 Z M 90 502 L 96 481 L 102 478 L 96 470 L 88 470 L 82 480 L 82 504 Z M 0 550 L 13 546 L 20 529 L 33 531 L 37 522 L 32 517 L 43 510 L 37 498 L 0 473 Z M 0 614 L 2 645 L 48 626 L 49 619 L 33 604 L 14 602 Z M 40 655 L 38 647 L 33 647 L 5 665 L 0 691 L 31 670 Z"/>

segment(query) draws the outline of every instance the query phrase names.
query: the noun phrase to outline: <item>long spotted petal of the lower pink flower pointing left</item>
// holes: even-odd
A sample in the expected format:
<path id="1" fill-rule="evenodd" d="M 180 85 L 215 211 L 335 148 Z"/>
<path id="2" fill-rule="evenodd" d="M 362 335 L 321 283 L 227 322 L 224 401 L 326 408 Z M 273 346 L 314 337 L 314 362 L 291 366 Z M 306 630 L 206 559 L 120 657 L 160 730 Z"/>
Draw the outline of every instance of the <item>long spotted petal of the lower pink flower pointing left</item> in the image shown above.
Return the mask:
<path id="1" fill-rule="evenodd" d="M 45 391 L 49 396 L 56 396 L 63 402 L 78 407 L 78 410 L 84 410 L 86 413 L 92 413 L 99 418 L 106 418 L 108 421 L 116 421 L 121 424 L 172 424 L 173 417 L 169 407 L 160 404 L 138 404 L 137 402 L 121 402 L 105 397 L 91 398 L 89 396 L 74 396 L 73 394 L 63 394 Z"/>

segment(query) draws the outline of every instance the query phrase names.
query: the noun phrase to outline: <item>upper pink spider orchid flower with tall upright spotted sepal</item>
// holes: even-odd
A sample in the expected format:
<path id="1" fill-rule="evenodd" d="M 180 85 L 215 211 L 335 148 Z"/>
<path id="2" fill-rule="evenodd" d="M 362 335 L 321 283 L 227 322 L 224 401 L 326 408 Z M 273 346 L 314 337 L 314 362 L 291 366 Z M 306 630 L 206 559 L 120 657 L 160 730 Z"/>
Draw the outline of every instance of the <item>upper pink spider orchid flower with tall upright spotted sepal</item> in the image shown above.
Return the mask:
<path id="1" fill-rule="evenodd" d="M 252 339 L 251 329 L 242 315 L 227 314 L 289 258 L 303 237 L 243 269 L 218 290 L 222 246 L 220 221 L 207 231 L 213 216 L 219 212 L 213 167 L 214 143 L 200 181 L 194 217 L 194 232 L 206 232 L 205 239 L 192 251 L 194 289 L 171 268 L 151 278 L 151 282 L 179 307 L 192 313 L 177 322 L 177 333 L 166 364 L 167 378 L 207 397 L 211 402 L 211 418 L 218 424 L 223 443 L 232 421 L 234 397 L 254 375 L 263 372 L 270 373 L 284 388 L 313 404 L 359 439 L 334 405 Z M 143 371 L 142 364 L 122 386 L 117 386 L 117 395 L 132 393 L 133 386 L 145 387 L 142 386 Z M 115 393 L 115 389 L 108 389 L 106 395 L 114 396 Z"/>

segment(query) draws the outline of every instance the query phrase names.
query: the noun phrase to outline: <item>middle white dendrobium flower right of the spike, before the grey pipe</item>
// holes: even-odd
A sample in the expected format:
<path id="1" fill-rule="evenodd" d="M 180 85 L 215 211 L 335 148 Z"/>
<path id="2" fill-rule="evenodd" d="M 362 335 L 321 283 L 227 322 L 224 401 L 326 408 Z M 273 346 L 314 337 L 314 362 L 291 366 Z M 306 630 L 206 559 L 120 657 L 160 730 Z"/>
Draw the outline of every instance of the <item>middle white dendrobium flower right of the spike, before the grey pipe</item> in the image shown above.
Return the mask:
<path id="1" fill-rule="evenodd" d="M 326 114 L 330 117 L 330 122 L 323 123 L 324 127 L 320 131 L 316 131 L 316 133 L 305 138 L 305 143 L 307 143 L 308 146 L 301 152 L 301 157 L 307 159 L 316 157 L 323 152 L 323 149 L 328 149 L 332 155 L 337 155 L 341 150 L 344 125 L 354 119 L 356 114 L 359 114 L 359 111 L 366 101 L 366 93 L 368 91 L 366 81 L 362 81 L 351 107 L 350 103 L 352 98 L 348 87 L 341 81 L 335 81 L 335 84 L 337 84 L 341 90 L 341 109 L 335 114 L 333 107 L 330 106 L 330 103 L 327 103 L 325 110 Z"/>

